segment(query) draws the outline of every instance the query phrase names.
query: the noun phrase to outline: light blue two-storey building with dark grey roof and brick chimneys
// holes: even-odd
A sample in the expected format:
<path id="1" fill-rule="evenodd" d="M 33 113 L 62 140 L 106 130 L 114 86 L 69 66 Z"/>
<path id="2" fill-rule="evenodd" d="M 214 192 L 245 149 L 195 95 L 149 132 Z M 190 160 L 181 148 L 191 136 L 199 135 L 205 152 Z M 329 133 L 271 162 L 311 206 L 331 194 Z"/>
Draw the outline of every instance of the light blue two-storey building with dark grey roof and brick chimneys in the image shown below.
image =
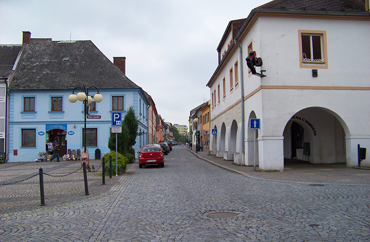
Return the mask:
<path id="1" fill-rule="evenodd" d="M 31 39 L 23 32 L 23 44 L 15 61 L 14 77 L 8 94 L 8 162 L 34 161 L 57 139 L 59 156 L 68 149 L 84 148 L 85 112 L 83 102 L 71 103 L 69 95 L 81 88 L 92 99 L 86 116 L 86 150 L 101 156 L 109 152 L 111 113 L 122 119 L 132 106 L 139 120 L 135 151 L 147 143 L 148 101 L 143 90 L 126 77 L 125 58 L 114 64 L 90 41 Z"/>

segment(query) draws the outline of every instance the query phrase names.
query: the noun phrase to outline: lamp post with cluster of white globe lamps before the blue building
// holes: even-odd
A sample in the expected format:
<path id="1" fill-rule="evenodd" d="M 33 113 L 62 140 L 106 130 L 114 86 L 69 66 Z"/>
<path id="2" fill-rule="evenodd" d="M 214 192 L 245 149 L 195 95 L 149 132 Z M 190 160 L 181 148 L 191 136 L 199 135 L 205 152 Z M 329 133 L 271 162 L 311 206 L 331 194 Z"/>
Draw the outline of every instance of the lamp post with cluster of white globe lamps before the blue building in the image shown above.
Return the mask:
<path id="1" fill-rule="evenodd" d="M 77 100 L 83 102 L 84 124 L 85 124 L 84 126 L 85 128 L 83 131 L 83 146 L 84 146 L 85 153 L 86 153 L 86 110 L 88 108 L 88 105 L 92 103 L 92 99 L 93 99 L 92 97 L 89 96 L 90 88 L 96 89 L 97 94 L 95 94 L 93 98 L 94 98 L 95 103 L 100 103 L 103 100 L 103 96 L 101 96 L 101 94 L 99 93 L 99 89 L 97 89 L 96 87 L 89 87 L 89 88 L 85 88 L 85 86 L 75 87 L 72 91 L 72 94 L 69 95 L 68 97 L 68 101 L 71 103 L 75 103 L 77 102 Z M 76 89 L 80 89 L 77 95 L 74 94 L 74 90 Z"/>

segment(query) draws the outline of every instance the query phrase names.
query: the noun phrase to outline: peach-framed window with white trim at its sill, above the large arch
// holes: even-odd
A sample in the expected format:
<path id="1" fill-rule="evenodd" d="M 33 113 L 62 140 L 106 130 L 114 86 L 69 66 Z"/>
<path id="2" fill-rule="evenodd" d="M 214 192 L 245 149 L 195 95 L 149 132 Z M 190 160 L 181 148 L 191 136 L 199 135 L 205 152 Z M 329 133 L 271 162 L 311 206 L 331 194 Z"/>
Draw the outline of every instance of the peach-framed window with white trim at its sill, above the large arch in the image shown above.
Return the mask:
<path id="1" fill-rule="evenodd" d="M 328 68 L 326 31 L 299 30 L 300 67 Z"/>

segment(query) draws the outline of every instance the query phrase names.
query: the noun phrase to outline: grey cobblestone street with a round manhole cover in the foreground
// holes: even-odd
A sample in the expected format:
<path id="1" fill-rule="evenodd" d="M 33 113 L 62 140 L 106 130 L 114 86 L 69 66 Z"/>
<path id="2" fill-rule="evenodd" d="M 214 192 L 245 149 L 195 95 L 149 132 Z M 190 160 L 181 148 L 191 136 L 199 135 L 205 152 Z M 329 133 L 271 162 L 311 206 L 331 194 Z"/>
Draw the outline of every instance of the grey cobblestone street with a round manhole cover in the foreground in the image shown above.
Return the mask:
<path id="1" fill-rule="evenodd" d="M 37 167 L 12 165 L 0 165 L 1 183 L 32 170 L 16 178 L 26 177 L 33 173 L 30 166 Z M 62 173 L 59 163 L 50 169 L 53 166 Z M 81 176 L 76 173 L 71 176 Z M 370 241 L 370 182 L 313 186 L 315 176 L 301 183 L 246 175 L 175 146 L 165 156 L 164 168 L 128 165 L 124 175 L 108 179 L 105 186 L 98 185 L 101 177 L 96 173 L 88 173 L 88 180 L 96 184 L 89 185 L 89 196 L 83 195 L 83 185 L 72 185 L 79 183 L 74 178 L 56 178 L 52 184 L 59 189 L 55 197 L 60 202 L 48 200 L 45 192 L 46 206 L 34 202 L 32 207 L 26 199 L 25 209 L 13 206 L 39 195 L 35 178 L 1 185 L 1 205 L 8 207 L 1 210 L 0 241 Z"/>

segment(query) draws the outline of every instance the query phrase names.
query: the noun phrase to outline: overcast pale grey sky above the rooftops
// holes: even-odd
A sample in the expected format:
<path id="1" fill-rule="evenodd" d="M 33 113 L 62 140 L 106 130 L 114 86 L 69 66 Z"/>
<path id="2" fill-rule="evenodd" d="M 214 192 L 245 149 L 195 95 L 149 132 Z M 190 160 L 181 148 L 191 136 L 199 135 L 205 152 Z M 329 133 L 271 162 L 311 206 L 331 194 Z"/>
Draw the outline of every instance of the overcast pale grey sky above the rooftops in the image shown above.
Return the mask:
<path id="1" fill-rule="evenodd" d="M 31 38 L 91 40 L 152 96 L 158 114 L 188 124 L 190 110 L 210 100 L 207 82 L 230 20 L 269 0 L 0 0 L 0 44 Z"/>

